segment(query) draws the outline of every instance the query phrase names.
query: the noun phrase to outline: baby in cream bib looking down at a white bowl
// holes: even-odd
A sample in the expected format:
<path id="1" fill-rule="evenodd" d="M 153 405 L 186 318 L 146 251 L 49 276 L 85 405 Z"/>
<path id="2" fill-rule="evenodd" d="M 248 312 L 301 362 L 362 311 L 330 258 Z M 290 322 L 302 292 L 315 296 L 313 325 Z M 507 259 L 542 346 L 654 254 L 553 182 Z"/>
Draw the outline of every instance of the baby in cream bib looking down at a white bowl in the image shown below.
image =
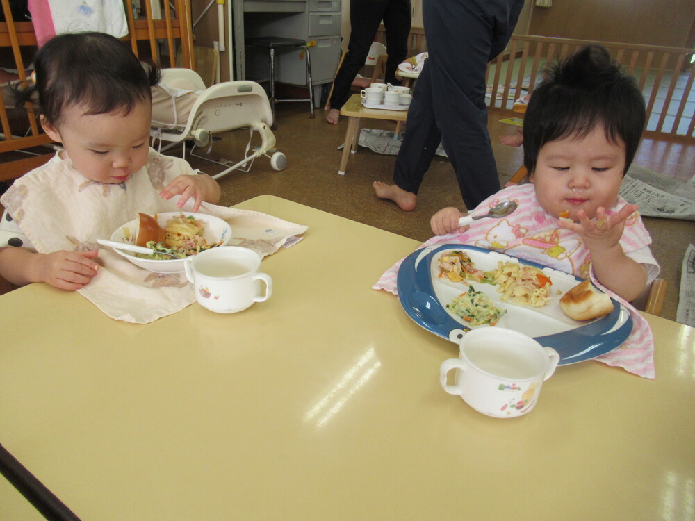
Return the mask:
<path id="1" fill-rule="evenodd" d="M 0 276 L 20 286 L 47 282 L 78 290 L 97 274 L 97 238 L 138 212 L 186 204 L 195 212 L 202 201 L 216 203 L 220 187 L 186 161 L 149 147 L 159 72 L 143 68 L 124 42 L 104 33 L 58 35 L 41 47 L 34 65 L 34 84 L 17 92 L 17 106 L 37 104 L 44 131 L 63 149 L 3 195 L 38 252 L 0 249 Z M 56 221 L 72 251 L 43 246 L 42 229 Z"/>

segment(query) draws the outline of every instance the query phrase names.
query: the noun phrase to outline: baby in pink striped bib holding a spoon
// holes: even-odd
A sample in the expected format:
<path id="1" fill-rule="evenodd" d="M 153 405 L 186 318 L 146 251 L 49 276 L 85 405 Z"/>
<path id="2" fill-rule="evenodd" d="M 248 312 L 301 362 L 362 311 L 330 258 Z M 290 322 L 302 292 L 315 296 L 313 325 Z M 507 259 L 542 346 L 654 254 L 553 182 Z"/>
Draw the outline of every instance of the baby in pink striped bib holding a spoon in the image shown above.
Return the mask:
<path id="1" fill-rule="evenodd" d="M 641 92 L 608 51 L 580 49 L 550 69 L 530 99 L 523 144 L 531 182 L 500 190 L 471 214 L 484 215 L 507 200 L 518 208 L 470 227 L 459 227 L 460 210 L 443 208 L 431 220 L 439 236 L 423 246 L 457 243 L 502 251 L 589 279 L 632 310 L 628 301 L 660 271 L 637 206 L 619 196 L 645 119 Z M 393 291 L 397 272 L 398 264 L 375 288 Z M 636 350 L 635 363 L 615 364 L 653 377 L 651 331 L 638 313 L 630 314 L 635 326 L 622 347 Z"/>

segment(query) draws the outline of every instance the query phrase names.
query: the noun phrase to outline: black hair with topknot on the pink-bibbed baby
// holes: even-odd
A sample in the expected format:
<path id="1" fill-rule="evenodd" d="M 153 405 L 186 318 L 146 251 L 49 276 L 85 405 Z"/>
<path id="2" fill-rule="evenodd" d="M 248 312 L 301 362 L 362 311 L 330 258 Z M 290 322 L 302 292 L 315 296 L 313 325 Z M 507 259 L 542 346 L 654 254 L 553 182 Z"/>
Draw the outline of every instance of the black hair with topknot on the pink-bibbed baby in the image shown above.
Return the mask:
<path id="1" fill-rule="evenodd" d="M 548 74 L 533 91 L 524 116 L 523 156 L 528 172 L 536 169 L 544 144 L 586 136 L 597 125 L 603 126 L 609 142 L 625 143 L 627 172 L 646 119 L 644 97 L 635 79 L 623 74 L 599 45 L 583 47 Z"/>

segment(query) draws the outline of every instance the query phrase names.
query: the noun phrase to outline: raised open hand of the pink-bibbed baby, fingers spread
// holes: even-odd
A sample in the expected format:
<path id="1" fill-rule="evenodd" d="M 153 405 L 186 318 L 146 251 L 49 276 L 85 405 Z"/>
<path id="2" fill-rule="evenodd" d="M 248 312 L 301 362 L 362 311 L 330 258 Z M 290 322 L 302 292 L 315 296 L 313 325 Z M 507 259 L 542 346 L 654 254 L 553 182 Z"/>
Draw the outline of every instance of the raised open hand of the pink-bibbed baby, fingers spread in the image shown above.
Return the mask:
<path id="1" fill-rule="evenodd" d="M 605 208 L 599 206 L 596 208 L 595 220 L 589 219 L 584 210 L 579 210 L 578 223 L 560 221 L 559 226 L 580 235 L 589 251 L 607 250 L 619 243 L 626 220 L 635 213 L 637 208 L 636 204 L 626 204 L 618 213 L 609 217 L 606 215 Z"/>

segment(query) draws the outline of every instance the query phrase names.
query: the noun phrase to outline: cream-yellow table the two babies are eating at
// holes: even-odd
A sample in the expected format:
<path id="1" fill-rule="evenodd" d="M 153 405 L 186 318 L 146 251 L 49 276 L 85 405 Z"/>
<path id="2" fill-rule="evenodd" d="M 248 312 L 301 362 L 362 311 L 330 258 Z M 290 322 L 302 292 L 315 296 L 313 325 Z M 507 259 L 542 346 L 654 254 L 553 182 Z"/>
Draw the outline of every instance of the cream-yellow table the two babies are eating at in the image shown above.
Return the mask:
<path id="1" fill-rule="evenodd" d="M 309 226 L 270 301 L 147 325 L 35 284 L 0 297 L 0 443 L 83 520 L 684 520 L 695 329 L 648 317 L 657 379 L 559 367 L 529 415 L 439 386 L 457 347 L 370 286 L 418 242 L 262 196 Z M 0 477 L 0 519 L 39 519 Z"/>

